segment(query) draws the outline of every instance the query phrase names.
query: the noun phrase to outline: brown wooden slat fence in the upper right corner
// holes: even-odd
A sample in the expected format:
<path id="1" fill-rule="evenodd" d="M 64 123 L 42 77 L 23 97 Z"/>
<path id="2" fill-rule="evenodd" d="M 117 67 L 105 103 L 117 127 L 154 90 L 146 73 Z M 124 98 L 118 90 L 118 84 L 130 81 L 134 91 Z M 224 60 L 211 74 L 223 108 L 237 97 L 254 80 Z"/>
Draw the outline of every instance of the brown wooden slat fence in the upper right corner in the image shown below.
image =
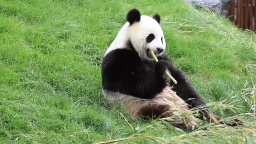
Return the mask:
<path id="1" fill-rule="evenodd" d="M 256 32 L 256 0 L 233 0 L 227 12 L 238 27 Z"/>

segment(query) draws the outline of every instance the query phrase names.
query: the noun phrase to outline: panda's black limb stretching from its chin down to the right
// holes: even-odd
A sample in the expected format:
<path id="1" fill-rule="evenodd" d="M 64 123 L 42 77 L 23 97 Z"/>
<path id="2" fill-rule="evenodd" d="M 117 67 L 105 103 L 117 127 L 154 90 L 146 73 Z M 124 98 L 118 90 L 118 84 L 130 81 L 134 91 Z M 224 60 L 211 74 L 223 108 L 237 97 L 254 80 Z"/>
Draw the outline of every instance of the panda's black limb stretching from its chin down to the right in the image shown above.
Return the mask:
<path id="1" fill-rule="evenodd" d="M 178 83 L 176 85 L 172 81 L 170 84 L 173 85 L 173 91 L 176 91 L 177 95 L 181 97 L 181 99 L 186 101 L 187 104 L 189 104 L 192 108 L 205 104 L 199 93 L 197 93 L 192 84 L 189 83 L 187 77 L 184 75 L 184 72 L 182 72 L 181 69 L 175 67 L 173 62 L 165 55 L 158 57 L 158 59 L 160 61 L 165 61 L 163 63 L 166 63 L 171 75 L 175 78 L 175 80 L 177 80 Z"/>

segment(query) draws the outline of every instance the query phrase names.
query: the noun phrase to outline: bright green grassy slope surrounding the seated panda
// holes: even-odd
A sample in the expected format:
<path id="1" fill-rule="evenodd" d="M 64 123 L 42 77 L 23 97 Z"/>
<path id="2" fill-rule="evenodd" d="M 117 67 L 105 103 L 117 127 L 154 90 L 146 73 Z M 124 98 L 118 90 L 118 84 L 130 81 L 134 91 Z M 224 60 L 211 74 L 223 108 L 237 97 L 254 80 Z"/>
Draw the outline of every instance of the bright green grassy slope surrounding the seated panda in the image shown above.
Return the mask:
<path id="1" fill-rule="evenodd" d="M 136 1 L 0 0 L 0 143 L 90 143 L 148 125 L 109 110 L 101 94 L 102 56 L 133 7 L 162 16 L 166 53 L 205 101 L 234 96 L 229 103 L 248 112 L 240 91 L 250 79 L 245 64 L 256 62 L 255 37 L 179 0 Z"/>

